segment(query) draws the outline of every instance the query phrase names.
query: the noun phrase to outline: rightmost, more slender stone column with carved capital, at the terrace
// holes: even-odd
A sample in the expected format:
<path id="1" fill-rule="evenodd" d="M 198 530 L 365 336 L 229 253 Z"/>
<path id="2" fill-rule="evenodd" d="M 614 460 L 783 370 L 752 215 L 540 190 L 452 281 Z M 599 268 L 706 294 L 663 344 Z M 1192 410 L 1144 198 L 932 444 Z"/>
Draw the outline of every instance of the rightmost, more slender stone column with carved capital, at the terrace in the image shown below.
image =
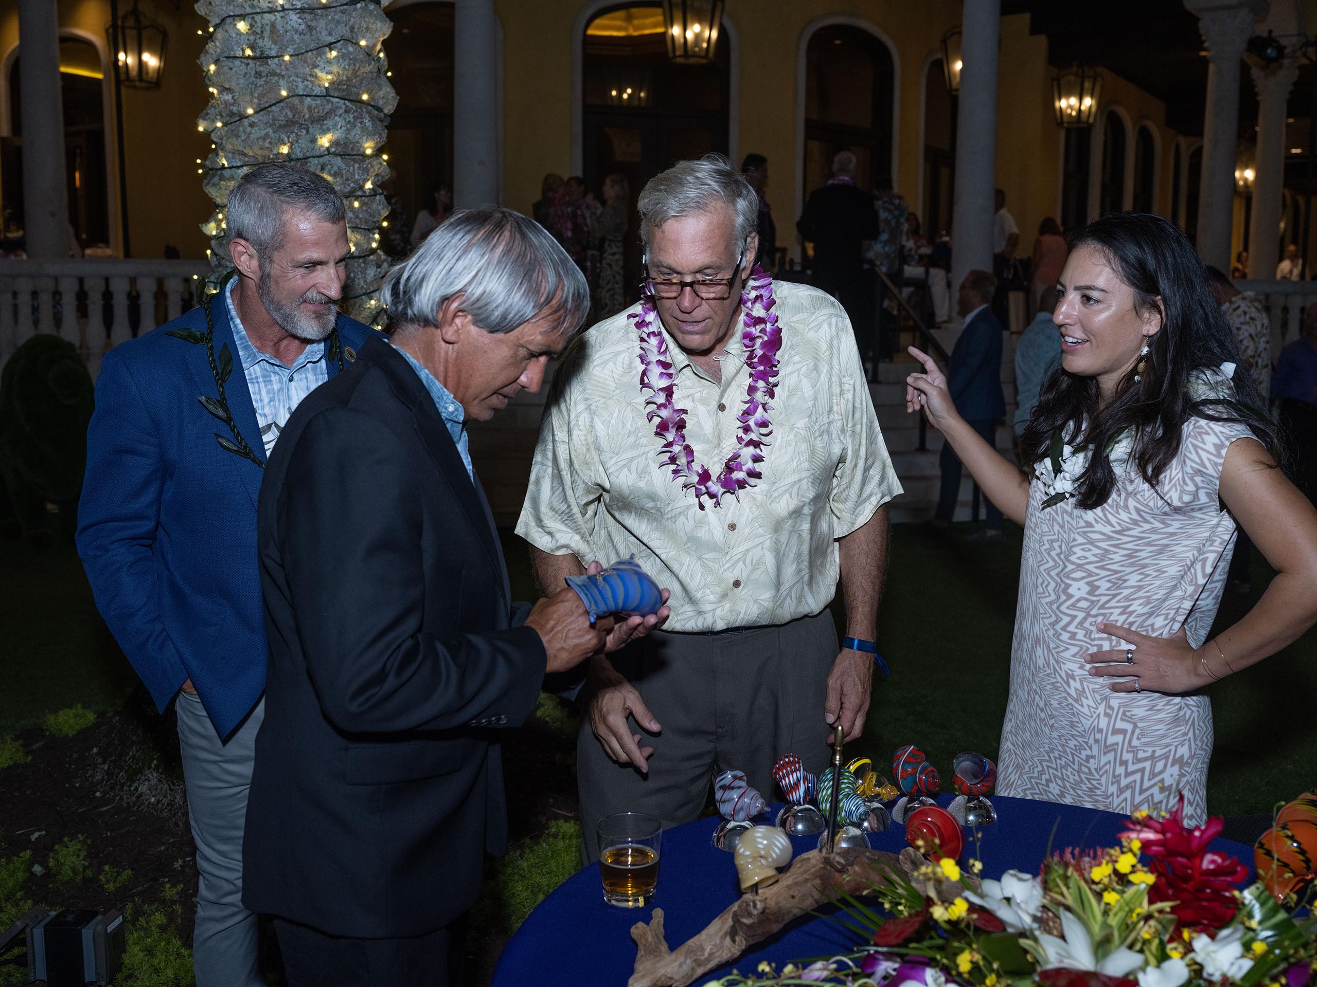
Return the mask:
<path id="1" fill-rule="evenodd" d="M 1258 158 L 1252 178 L 1252 220 L 1249 225 L 1249 274 L 1276 276 L 1280 253 L 1281 192 L 1285 187 L 1285 104 L 1299 78 L 1299 59 L 1287 58 L 1270 70 L 1252 70 L 1258 91 Z M 1221 268 L 1229 270 L 1229 268 Z"/>

